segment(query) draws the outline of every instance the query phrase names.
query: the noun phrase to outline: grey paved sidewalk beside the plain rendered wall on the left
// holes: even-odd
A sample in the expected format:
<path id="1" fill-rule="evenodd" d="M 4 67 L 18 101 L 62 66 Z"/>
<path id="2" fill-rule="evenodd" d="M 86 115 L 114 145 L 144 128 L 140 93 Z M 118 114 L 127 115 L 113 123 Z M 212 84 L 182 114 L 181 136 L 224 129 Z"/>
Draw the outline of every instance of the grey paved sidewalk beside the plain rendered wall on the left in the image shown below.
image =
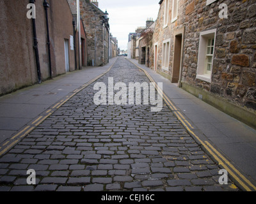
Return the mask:
<path id="1" fill-rule="evenodd" d="M 0 97 L 0 147 L 50 106 L 106 72 L 115 61 L 116 58 L 112 58 L 106 66 L 84 67 Z"/>

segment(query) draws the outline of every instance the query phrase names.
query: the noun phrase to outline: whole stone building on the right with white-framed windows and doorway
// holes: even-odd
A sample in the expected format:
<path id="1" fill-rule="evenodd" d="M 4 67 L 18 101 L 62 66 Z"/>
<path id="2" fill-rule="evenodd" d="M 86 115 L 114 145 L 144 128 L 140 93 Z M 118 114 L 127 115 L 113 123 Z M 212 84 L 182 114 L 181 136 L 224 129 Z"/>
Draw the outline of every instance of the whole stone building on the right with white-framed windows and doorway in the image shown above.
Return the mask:
<path id="1" fill-rule="evenodd" d="M 256 126 L 256 1 L 161 0 L 152 69 Z"/>

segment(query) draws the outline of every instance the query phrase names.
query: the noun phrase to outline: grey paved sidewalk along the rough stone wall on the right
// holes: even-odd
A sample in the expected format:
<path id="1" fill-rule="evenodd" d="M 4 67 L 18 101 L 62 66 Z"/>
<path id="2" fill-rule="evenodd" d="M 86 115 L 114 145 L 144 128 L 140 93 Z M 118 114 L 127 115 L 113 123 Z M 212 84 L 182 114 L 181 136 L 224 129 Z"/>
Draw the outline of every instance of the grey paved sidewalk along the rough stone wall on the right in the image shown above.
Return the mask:
<path id="1" fill-rule="evenodd" d="M 202 141 L 209 142 L 255 186 L 256 130 L 208 105 L 192 94 L 172 84 L 135 59 L 129 59 L 148 72 L 155 82 L 163 82 L 163 91 L 193 126 Z M 239 177 L 239 176 L 237 176 Z"/>

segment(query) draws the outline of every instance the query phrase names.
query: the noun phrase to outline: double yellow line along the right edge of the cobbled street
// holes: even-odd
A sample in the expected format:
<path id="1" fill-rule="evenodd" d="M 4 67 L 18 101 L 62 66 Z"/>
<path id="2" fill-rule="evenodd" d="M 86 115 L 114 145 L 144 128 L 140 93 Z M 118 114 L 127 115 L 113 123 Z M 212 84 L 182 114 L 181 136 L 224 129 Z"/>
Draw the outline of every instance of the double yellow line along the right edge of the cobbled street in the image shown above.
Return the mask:
<path id="1" fill-rule="evenodd" d="M 134 64 L 134 62 L 132 62 L 132 61 L 130 61 L 130 62 L 132 64 Z M 209 142 L 200 140 L 200 138 L 193 132 L 192 129 L 194 129 L 194 128 L 191 126 L 191 124 L 188 122 L 188 120 L 186 120 L 186 118 L 180 113 L 178 108 L 176 108 L 175 105 L 173 105 L 172 101 L 170 101 L 170 99 L 166 96 L 166 94 L 164 94 L 163 90 L 161 90 L 157 86 L 157 83 L 147 73 L 147 71 L 145 71 L 145 69 L 143 69 L 143 68 L 140 68 L 140 66 L 138 66 L 137 64 L 134 64 L 134 65 L 137 68 L 141 69 L 145 73 L 145 75 L 147 75 L 148 79 L 151 82 L 154 82 L 156 84 L 156 86 L 155 86 L 156 90 L 158 92 L 160 92 L 160 95 L 163 96 L 163 99 L 164 99 L 164 102 L 166 103 L 166 105 L 168 105 L 170 110 L 172 110 L 172 112 L 177 116 L 177 118 L 180 120 L 180 122 L 183 124 L 183 126 L 187 129 L 187 131 L 190 133 L 190 135 L 192 135 L 194 138 L 196 138 L 196 140 L 198 140 L 198 142 L 205 148 L 205 150 L 207 150 L 207 152 L 209 152 L 209 154 L 211 154 L 211 156 L 215 159 L 215 161 L 218 162 L 218 164 L 220 166 L 223 166 L 223 168 L 225 168 L 225 170 L 228 171 L 228 174 L 231 175 L 231 177 L 234 180 L 236 180 L 235 183 L 237 183 L 241 187 L 243 187 L 243 189 L 245 191 L 256 191 L 256 187 L 252 184 L 252 182 L 250 182 L 250 180 L 246 179 L 246 177 L 244 177 L 244 175 L 239 170 L 237 170 L 236 167 L 233 164 L 231 164 L 218 150 L 216 150 Z"/>

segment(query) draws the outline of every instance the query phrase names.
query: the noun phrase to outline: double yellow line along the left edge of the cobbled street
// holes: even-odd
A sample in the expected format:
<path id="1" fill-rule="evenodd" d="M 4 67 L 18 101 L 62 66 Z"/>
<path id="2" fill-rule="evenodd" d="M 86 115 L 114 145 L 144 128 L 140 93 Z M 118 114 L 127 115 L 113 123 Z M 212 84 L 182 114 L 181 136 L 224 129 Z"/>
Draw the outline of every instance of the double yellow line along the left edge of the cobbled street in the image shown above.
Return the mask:
<path id="1" fill-rule="evenodd" d="M 116 62 L 116 61 L 115 61 Z M 54 113 L 56 110 L 58 110 L 63 104 L 67 103 L 67 101 L 69 99 L 71 99 L 73 96 L 75 96 L 78 92 L 82 91 L 84 88 L 88 87 L 88 85 L 92 84 L 93 82 L 95 82 L 96 80 L 98 80 L 100 77 L 103 77 L 104 75 L 106 75 L 106 73 L 108 73 L 111 68 L 113 68 L 115 62 L 113 62 L 113 64 L 108 68 L 107 71 L 105 71 L 104 73 L 100 74 L 98 77 L 93 78 L 92 80 L 90 80 L 90 82 L 87 82 L 86 84 L 82 85 L 79 89 L 76 89 L 75 91 L 72 92 L 72 94 L 70 96 L 66 96 L 66 99 L 62 99 L 60 102 L 56 103 L 55 105 L 53 105 L 51 108 L 49 108 L 49 110 L 46 111 L 47 115 L 40 115 L 38 118 L 36 118 L 35 120 L 33 120 L 33 122 L 31 122 L 31 125 L 26 126 L 25 128 L 23 128 L 21 131 L 19 131 L 18 133 L 16 133 L 14 136 L 12 136 L 12 138 L 10 138 L 9 140 L 7 140 L 6 142 L 3 143 L 2 146 L 0 146 L 0 156 L 2 156 L 3 154 L 5 154 L 8 150 L 10 150 L 14 145 L 16 145 L 17 143 L 20 142 L 20 140 L 22 138 L 24 138 L 24 136 L 28 135 L 29 133 L 31 133 L 31 131 L 33 131 L 33 129 L 35 129 L 37 126 L 39 126 L 42 122 L 44 122 L 45 119 L 47 119 L 50 115 L 52 115 L 52 113 Z"/>

